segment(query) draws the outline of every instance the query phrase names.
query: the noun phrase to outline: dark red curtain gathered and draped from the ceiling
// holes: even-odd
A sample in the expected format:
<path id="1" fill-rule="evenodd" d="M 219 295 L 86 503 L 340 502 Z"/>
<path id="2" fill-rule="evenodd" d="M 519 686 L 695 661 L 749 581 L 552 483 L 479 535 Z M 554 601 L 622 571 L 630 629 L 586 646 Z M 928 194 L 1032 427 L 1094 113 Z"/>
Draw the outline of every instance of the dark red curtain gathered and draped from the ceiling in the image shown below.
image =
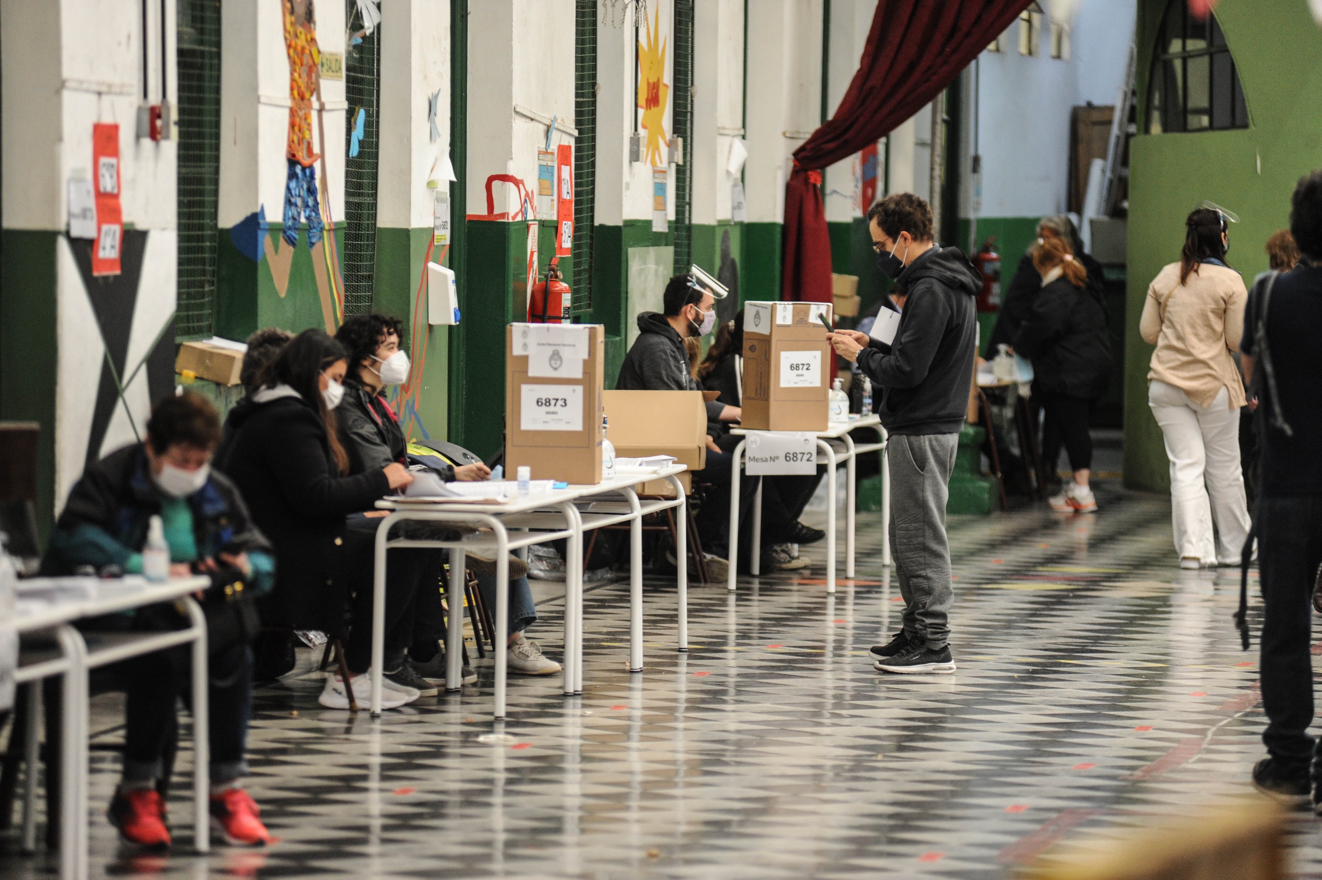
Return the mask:
<path id="1" fill-rule="evenodd" d="M 830 302 L 821 169 L 931 103 L 1032 0 L 879 0 L 863 57 L 836 115 L 795 151 L 785 185 L 781 299 Z"/>

